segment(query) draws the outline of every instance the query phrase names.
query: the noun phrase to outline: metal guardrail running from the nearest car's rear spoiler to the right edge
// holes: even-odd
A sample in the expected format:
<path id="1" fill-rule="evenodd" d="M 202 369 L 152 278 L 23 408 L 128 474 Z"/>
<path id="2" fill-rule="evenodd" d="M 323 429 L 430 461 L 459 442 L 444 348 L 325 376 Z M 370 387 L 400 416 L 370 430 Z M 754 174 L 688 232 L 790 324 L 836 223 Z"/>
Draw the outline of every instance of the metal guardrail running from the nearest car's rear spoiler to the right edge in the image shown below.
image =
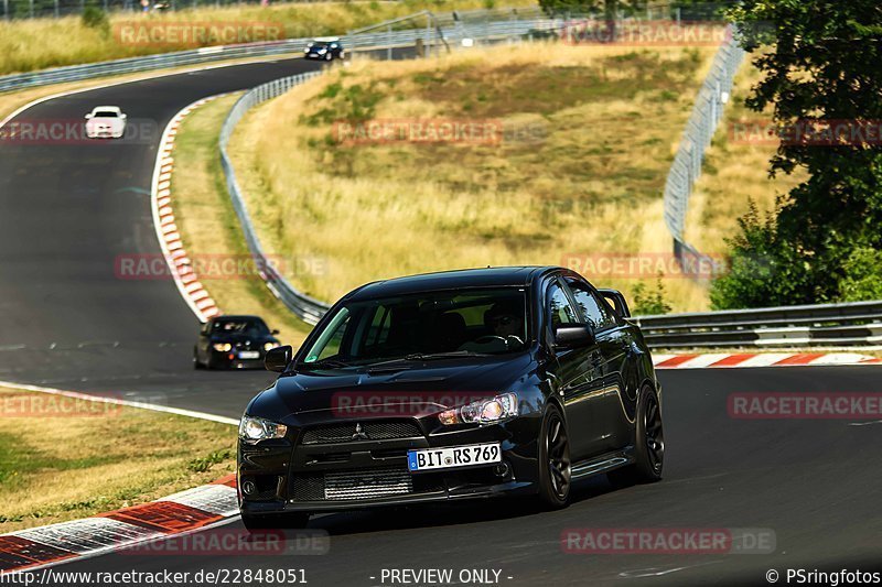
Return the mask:
<path id="1" fill-rule="evenodd" d="M 638 316 L 654 348 L 882 344 L 882 301 Z"/>

